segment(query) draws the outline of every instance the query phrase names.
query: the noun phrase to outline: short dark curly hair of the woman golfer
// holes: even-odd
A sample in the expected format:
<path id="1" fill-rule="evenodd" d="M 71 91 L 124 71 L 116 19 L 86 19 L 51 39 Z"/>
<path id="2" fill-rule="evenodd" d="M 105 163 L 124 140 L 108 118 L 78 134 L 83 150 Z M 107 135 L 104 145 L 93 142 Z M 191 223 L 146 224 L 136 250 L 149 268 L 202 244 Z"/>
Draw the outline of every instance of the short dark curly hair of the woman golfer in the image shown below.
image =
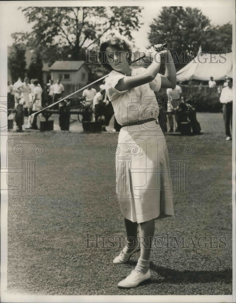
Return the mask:
<path id="1" fill-rule="evenodd" d="M 112 37 L 109 40 L 106 40 L 102 42 L 100 49 L 98 50 L 98 62 L 104 66 L 108 71 L 112 71 L 111 65 L 107 63 L 107 56 L 106 56 L 106 48 L 107 47 L 116 47 L 118 50 L 128 52 L 127 61 L 129 64 L 131 64 L 131 57 L 132 52 L 129 44 L 125 42 L 125 40 L 119 38 L 119 37 Z"/>

